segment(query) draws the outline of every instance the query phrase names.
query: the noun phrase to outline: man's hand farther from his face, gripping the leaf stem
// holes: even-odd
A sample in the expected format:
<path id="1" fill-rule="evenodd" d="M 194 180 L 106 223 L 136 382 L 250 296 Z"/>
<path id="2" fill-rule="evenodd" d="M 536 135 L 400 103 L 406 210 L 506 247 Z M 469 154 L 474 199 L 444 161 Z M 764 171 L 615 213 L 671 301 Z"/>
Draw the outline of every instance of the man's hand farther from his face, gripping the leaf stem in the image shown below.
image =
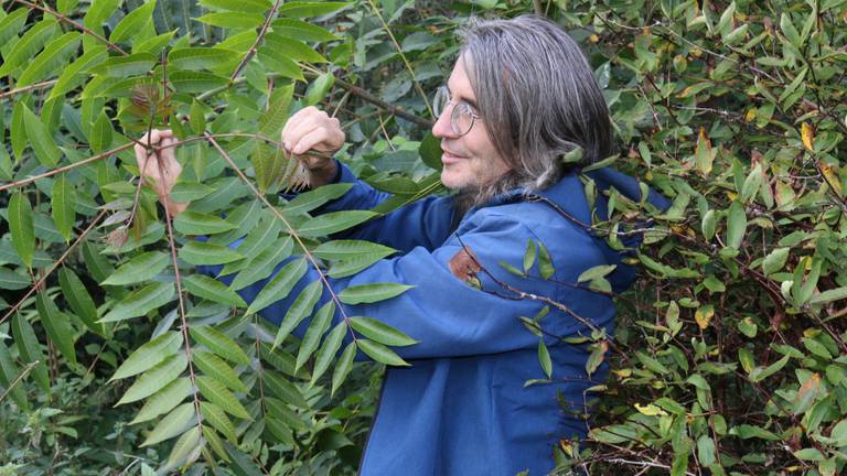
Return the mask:
<path id="1" fill-rule="evenodd" d="M 150 131 L 149 138 L 148 134 L 144 134 L 139 142 L 144 145 L 167 148 L 159 153 L 156 151 L 148 153 L 144 145 L 137 143 L 136 161 L 141 180 L 151 182 L 150 185 L 159 194 L 159 202 L 165 206 L 171 216 L 176 216 L 187 208 L 189 204 L 175 203 L 170 197 L 171 190 L 182 173 L 182 165 L 176 162 L 176 156 L 173 153 L 173 132 L 169 129 L 153 129 Z"/>

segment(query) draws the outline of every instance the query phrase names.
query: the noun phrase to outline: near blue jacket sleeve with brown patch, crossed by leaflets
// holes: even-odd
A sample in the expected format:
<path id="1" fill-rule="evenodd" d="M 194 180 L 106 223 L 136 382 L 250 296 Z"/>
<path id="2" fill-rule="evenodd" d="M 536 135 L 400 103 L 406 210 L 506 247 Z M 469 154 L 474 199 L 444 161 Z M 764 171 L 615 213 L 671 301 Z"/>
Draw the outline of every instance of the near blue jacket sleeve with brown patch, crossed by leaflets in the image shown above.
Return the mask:
<path id="1" fill-rule="evenodd" d="M 457 278 L 451 272 L 450 261 L 457 253 L 468 249 L 496 281 L 537 295 L 562 300 L 565 304 L 578 309 L 580 314 L 591 315 L 600 322 L 611 320 L 613 306 L 608 296 L 579 289 L 562 294 L 549 281 L 525 279 L 503 270 L 497 264 L 501 261 L 519 268 L 526 240 L 533 234 L 517 219 L 495 214 L 476 215 L 485 216 L 474 217 L 478 221 L 475 226 L 463 226 L 465 231 L 461 236 L 451 237 L 431 251 L 416 247 L 398 258 L 380 260 L 354 277 L 337 280 L 328 278 L 336 294 L 357 284 L 394 282 L 414 285 L 407 292 L 386 301 L 344 305 L 346 315 L 382 321 L 419 340 L 412 346 L 395 348 L 398 355 L 407 359 L 459 357 L 536 347 L 538 337 L 523 326 L 519 317 L 534 316 L 544 307 L 544 303 L 532 299 L 515 299 L 482 272 L 479 273 L 482 290 Z M 557 267 L 561 269 L 557 270 L 557 274 L 571 274 L 575 279 L 581 271 L 599 264 L 599 259 L 592 253 L 575 249 L 572 256 L 559 257 Z M 259 314 L 279 324 L 300 290 L 315 279 L 317 271 L 311 270 L 286 299 Z M 239 293 L 251 302 L 266 282 L 257 282 Z M 329 300 L 330 294 L 324 289 L 322 303 Z M 343 317 L 336 311 L 333 318 L 337 323 Z M 573 335 L 585 329 L 571 315 L 556 309 L 545 316 L 543 324 L 545 331 L 554 335 Z M 307 328 L 308 321 L 294 334 L 302 336 Z"/>

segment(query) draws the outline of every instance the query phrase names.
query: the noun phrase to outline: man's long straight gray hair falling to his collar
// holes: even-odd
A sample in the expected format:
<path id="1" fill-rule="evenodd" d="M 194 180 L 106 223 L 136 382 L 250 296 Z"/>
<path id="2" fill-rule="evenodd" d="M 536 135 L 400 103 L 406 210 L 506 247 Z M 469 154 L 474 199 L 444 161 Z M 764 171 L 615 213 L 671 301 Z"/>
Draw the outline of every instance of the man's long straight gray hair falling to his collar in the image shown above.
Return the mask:
<path id="1" fill-rule="evenodd" d="M 460 31 L 464 62 L 489 138 L 512 167 L 503 178 L 459 198 L 480 205 L 521 186 L 543 190 L 582 149 L 586 165 L 611 155 L 609 109 L 577 43 L 556 23 L 536 15 L 471 19 Z M 572 166 L 572 165 L 571 165 Z"/>

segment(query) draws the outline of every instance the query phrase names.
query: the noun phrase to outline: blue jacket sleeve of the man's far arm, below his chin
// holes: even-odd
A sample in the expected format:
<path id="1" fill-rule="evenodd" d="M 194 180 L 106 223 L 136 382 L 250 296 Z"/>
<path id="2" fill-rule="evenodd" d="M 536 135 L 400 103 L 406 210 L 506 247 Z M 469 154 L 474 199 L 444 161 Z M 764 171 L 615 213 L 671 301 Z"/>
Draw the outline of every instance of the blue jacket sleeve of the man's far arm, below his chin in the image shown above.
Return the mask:
<path id="1" fill-rule="evenodd" d="M 388 197 L 356 178 L 346 165 L 339 163 L 340 183 L 352 183 L 353 187 L 342 197 L 319 208 L 315 214 L 352 209 L 371 209 Z M 401 206 L 385 216 L 369 220 L 351 230 L 332 236 L 334 239 L 363 239 L 389 246 L 401 252 L 417 246 L 433 249 L 441 245 L 453 223 L 452 199 L 449 197 L 426 197 Z"/>

